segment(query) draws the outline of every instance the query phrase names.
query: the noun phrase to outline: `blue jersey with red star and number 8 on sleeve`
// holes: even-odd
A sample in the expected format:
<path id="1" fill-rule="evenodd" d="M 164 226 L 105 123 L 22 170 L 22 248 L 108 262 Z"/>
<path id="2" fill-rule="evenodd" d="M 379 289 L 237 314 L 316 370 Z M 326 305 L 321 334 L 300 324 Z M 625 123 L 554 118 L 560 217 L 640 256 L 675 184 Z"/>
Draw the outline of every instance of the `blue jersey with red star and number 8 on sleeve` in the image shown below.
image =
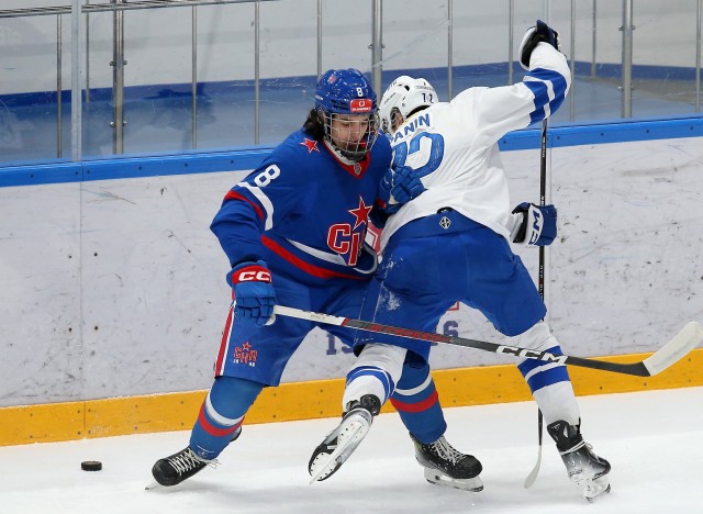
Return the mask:
<path id="1" fill-rule="evenodd" d="M 376 254 L 366 247 L 369 214 L 391 161 L 379 137 L 364 160 L 345 164 L 302 130 L 225 195 L 211 230 L 230 265 L 264 259 L 305 284 L 366 281 Z"/>

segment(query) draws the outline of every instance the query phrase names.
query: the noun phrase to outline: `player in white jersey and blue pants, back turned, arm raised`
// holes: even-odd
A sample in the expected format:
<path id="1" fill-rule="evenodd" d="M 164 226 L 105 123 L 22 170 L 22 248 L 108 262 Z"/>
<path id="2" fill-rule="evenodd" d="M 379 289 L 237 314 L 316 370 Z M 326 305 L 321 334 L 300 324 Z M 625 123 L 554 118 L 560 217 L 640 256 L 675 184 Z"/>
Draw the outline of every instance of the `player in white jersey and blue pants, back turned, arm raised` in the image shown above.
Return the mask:
<path id="1" fill-rule="evenodd" d="M 509 243 L 550 244 L 556 210 L 523 203 L 511 212 L 498 148 L 505 133 L 540 122 L 562 103 L 571 76 L 558 48 L 558 34 L 538 21 L 521 43 L 518 55 L 527 69 L 522 82 L 470 88 L 450 102 L 438 102 L 426 80 L 406 76 L 386 90 L 381 123 L 391 141 L 398 180 L 415 174 L 425 191 L 386 223 L 382 262 L 366 295 L 364 320 L 434 332 L 447 309 L 461 301 L 512 337 L 511 345 L 561 353 L 543 321 L 544 301 Z M 358 446 L 375 414 L 366 405 L 383 404 L 394 394 L 393 388 L 408 375 L 401 377 L 404 362 L 413 361 L 419 373 L 429 373 L 425 342 L 358 335 L 355 350 L 360 355 L 347 376 L 346 414 L 311 459 L 310 472 L 319 480 L 335 472 Z M 590 501 L 610 491 L 610 463 L 581 436 L 566 366 L 525 359 L 518 368 L 571 481 Z M 429 443 L 415 439 L 417 460 L 431 470 L 428 480 L 446 480 L 426 461 Z M 480 463 L 475 471 L 464 480 L 473 488 L 462 489 L 481 489 Z"/>

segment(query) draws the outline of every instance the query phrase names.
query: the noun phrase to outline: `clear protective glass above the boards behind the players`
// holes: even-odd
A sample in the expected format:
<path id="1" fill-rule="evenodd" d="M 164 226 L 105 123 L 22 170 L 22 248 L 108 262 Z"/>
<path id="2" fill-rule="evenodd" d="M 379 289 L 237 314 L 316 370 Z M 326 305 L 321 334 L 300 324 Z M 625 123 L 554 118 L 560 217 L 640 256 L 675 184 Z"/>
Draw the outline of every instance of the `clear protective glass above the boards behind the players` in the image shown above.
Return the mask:
<path id="1" fill-rule="evenodd" d="M 300 127 L 319 74 L 372 76 L 373 1 L 223 1 L 82 2 L 78 159 L 270 146 Z M 1 3 L 0 166 L 74 158 L 71 2 Z M 445 100 L 520 81 L 518 46 L 540 18 L 574 71 L 551 126 L 698 115 L 701 2 L 632 4 L 629 16 L 628 2 L 598 0 L 386 0 L 377 93 L 400 74 Z"/>

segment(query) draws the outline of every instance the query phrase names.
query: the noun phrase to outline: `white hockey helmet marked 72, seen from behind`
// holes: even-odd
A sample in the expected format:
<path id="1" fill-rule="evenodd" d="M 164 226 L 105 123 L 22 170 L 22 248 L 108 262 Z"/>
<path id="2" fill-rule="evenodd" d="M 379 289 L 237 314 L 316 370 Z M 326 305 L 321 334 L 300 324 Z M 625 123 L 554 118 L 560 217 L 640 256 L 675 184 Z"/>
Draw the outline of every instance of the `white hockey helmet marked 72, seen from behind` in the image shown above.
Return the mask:
<path id="1" fill-rule="evenodd" d="M 397 111 L 400 112 L 403 120 L 408 120 L 413 112 L 437 101 L 437 92 L 427 80 L 401 75 L 383 92 L 379 109 L 381 128 L 387 134 L 398 128 L 398 126 L 393 126 Z"/>

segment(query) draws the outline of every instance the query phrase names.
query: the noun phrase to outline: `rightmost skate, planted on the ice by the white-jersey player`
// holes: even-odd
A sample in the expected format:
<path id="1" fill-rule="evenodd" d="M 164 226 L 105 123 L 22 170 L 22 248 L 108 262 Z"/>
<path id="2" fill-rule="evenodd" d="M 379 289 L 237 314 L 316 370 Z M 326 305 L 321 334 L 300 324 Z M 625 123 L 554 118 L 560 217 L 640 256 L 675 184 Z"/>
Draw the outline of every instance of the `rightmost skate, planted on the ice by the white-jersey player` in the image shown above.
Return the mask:
<path id="1" fill-rule="evenodd" d="M 547 425 L 547 432 L 557 444 L 569 479 L 581 489 L 583 498 L 593 502 L 596 496 L 611 491 L 607 478 L 611 465 L 591 451 L 591 445 L 581 436 L 581 423 L 574 426 L 557 421 Z"/>

